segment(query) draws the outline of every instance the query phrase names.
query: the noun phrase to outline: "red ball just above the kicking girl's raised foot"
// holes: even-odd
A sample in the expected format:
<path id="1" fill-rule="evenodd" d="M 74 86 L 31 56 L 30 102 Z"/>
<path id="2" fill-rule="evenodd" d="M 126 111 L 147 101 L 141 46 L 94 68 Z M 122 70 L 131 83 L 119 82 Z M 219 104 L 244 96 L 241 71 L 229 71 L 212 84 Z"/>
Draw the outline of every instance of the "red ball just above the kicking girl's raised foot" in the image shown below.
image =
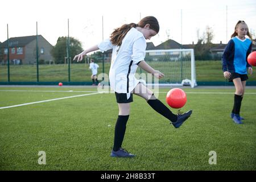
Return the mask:
<path id="1" fill-rule="evenodd" d="M 166 95 L 166 102 L 170 107 L 180 109 L 187 102 L 186 93 L 179 88 L 171 89 Z"/>

